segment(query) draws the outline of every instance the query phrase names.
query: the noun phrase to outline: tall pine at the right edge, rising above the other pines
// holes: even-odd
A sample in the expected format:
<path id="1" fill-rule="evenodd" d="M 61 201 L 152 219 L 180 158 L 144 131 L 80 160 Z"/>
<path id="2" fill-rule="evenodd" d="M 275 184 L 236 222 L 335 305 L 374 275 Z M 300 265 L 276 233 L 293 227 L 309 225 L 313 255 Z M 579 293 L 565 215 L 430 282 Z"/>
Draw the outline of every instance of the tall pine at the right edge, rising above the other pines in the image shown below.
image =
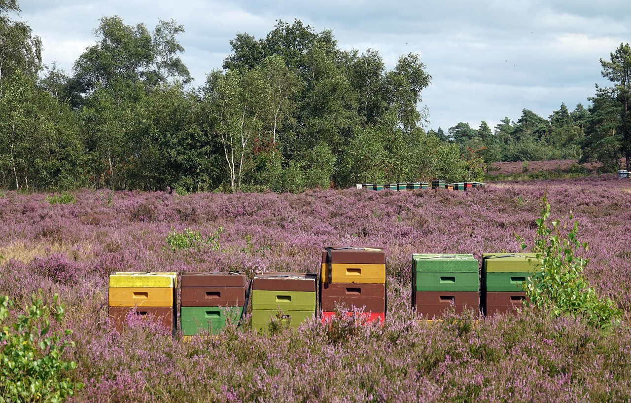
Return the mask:
<path id="1" fill-rule="evenodd" d="M 602 75 L 615 85 L 609 88 L 610 95 L 620 104 L 620 126 L 622 135 L 621 148 L 625 155 L 627 170 L 631 169 L 631 46 L 620 44 L 610 54 L 611 60 L 600 59 Z"/>

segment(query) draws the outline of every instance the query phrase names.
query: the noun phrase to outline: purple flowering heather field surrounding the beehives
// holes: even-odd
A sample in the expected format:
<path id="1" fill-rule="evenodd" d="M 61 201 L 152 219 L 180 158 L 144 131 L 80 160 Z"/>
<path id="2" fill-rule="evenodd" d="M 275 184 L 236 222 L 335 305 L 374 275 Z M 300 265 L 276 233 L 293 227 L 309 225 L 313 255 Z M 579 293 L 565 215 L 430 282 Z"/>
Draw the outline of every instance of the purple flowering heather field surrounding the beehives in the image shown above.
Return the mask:
<path id="1" fill-rule="evenodd" d="M 625 311 L 605 332 L 545 311 L 418 320 L 412 253 L 516 252 L 533 239 L 547 194 L 551 218 L 574 214 L 589 244 L 585 275 Z M 0 197 L 0 294 L 24 306 L 57 293 L 76 346 L 74 402 L 620 402 L 631 400 L 631 181 L 613 175 L 498 182 L 466 192 L 358 189 L 302 194 L 169 195 L 77 191 Z M 190 228 L 215 248 L 172 251 Z M 219 229 L 222 229 L 219 231 Z M 218 232 L 219 231 L 219 232 Z M 183 340 L 107 319 L 113 272 L 319 272 L 322 246 L 384 246 L 388 312 L 382 326 L 313 320 L 257 335 L 227 327 Z M 247 320 L 247 318 L 246 318 Z"/>

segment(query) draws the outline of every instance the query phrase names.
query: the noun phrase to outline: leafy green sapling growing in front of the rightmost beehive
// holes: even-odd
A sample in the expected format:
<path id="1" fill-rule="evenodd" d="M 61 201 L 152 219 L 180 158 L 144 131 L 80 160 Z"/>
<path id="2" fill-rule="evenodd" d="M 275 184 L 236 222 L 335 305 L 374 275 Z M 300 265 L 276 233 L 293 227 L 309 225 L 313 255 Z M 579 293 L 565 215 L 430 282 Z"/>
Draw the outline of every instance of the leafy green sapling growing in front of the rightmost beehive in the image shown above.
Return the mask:
<path id="1" fill-rule="evenodd" d="M 622 311 L 611 299 L 599 298 L 583 275 L 587 260 L 575 255 L 579 248 L 587 250 L 587 243 L 580 243 L 577 238 L 577 222 L 564 236 L 560 220 L 553 220 L 548 227 L 546 220 L 550 217 L 550 205 L 545 196 L 542 203 L 541 217 L 536 219 L 533 252 L 541 262 L 543 275 L 533 276 L 531 283 L 524 283 L 526 294 L 534 306 L 549 310 L 552 316 L 581 316 L 587 323 L 600 328 L 618 325 Z M 572 220 L 571 213 L 569 220 Z M 524 240 L 517 238 L 522 250 L 526 249 Z"/>

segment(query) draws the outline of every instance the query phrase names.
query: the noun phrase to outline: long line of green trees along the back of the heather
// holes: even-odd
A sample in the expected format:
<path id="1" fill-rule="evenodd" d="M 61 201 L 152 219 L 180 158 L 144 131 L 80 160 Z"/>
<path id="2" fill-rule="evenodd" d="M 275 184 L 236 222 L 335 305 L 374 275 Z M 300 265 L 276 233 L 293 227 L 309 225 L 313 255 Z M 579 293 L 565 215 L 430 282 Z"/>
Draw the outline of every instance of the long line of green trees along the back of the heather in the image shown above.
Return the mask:
<path id="1" fill-rule="evenodd" d="M 418 105 L 431 76 L 418 55 L 387 69 L 378 52 L 343 51 L 330 30 L 299 20 L 278 21 L 260 39 L 238 33 L 221 68 L 194 87 L 180 58 L 182 25 L 160 20 L 150 30 L 103 17 L 95 44 L 66 73 L 42 64 L 41 40 L 11 19 L 19 11 L 16 0 L 0 0 L 0 186 L 7 189 L 281 192 L 475 181 L 485 160 L 555 157 L 543 151 L 548 141 L 562 155 L 589 155 L 577 141 L 589 138 L 598 115 L 584 111 L 576 131 L 564 126 L 576 112 L 566 109 L 554 135 L 540 136 L 545 119 L 526 111 L 494 133 L 462 123 L 449 135 L 425 131 Z M 618 92 L 600 92 L 618 102 Z M 608 113 L 615 112 L 622 116 Z M 534 153 L 526 153 L 528 141 Z M 623 144 L 611 147 L 620 152 Z"/>

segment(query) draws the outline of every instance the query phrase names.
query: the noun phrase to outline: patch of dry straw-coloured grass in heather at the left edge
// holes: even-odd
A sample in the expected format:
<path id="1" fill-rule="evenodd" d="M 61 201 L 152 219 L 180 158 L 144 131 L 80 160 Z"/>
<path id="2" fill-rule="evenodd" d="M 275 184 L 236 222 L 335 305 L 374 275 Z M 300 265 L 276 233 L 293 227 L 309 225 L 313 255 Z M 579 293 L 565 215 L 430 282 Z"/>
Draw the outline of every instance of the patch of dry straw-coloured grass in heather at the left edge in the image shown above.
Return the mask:
<path id="1" fill-rule="evenodd" d="M 70 259 L 80 261 L 91 256 L 91 250 L 91 244 L 85 242 L 73 244 L 57 242 L 30 243 L 24 239 L 18 239 L 11 244 L 0 246 L 0 256 L 3 256 L 4 262 L 15 259 L 22 263 L 29 263 L 36 257 L 63 253 Z"/>

